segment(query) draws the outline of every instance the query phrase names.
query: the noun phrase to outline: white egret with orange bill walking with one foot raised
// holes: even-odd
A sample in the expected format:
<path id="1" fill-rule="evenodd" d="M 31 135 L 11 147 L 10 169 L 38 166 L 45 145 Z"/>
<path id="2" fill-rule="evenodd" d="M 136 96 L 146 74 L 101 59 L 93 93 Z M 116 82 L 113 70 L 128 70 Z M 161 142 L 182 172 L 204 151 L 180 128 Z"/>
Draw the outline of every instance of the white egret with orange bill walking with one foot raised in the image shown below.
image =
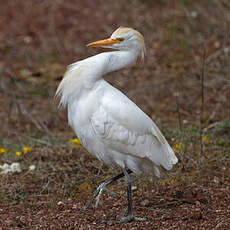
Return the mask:
<path id="1" fill-rule="evenodd" d="M 143 220 L 133 216 L 129 174 L 154 172 L 159 176 L 158 166 L 170 170 L 178 159 L 155 123 L 103 76 L 144 59 L 144 39 L 138 31 L 120 27 L 110 38 L 87 46 L 116 51 L 71 64 L 56 95 L 60 105 L 67 107 L 69 125 L 81 144 L 99 160 L 119 166 L 123 173 L 100 184 L 85 208 L 95 197 L 96 208 L 106 185 L 125 176 L 128 215 L 117 222 Z"/>

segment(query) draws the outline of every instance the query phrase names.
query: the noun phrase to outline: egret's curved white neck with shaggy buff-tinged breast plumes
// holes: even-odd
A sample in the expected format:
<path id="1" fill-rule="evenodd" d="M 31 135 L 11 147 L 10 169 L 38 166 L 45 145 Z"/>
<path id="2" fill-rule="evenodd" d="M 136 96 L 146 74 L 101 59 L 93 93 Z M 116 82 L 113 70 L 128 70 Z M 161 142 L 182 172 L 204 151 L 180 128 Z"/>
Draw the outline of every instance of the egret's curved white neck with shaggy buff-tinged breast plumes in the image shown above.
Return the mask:
<path id="1" fill-rule="evenodd" d="M 114 51 L 73 63 L 56 92 L 56 95 L 61 96 L 60 105 L 71 104 L 97 87 L 103 75 L 135 64 L 137 57 L 138 53 L 134 51 Z"/>

